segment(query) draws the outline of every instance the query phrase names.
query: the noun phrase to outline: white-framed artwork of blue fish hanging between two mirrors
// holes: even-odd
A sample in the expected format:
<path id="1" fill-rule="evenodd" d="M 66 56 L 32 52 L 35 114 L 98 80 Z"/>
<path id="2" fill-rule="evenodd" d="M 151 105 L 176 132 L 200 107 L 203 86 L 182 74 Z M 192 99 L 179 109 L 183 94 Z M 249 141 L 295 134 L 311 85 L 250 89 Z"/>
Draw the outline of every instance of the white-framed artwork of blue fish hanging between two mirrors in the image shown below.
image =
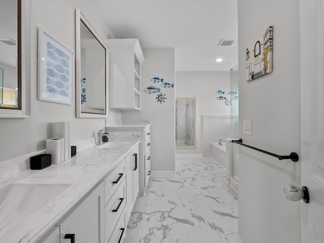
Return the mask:
<path id="1" fill-rule="evenodd" d="M 73 104 L 73 63 L 73 52 L 38 28 L 38 100 Z"/>

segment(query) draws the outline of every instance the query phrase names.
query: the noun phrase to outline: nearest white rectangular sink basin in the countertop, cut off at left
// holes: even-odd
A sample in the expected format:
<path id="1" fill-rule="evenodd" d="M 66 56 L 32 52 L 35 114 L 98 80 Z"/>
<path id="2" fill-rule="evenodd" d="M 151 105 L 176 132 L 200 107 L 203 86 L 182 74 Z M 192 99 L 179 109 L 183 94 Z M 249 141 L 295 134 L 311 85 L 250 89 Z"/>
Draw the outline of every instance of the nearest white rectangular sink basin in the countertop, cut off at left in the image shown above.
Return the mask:
<path id="1" fill-rule="evenodd" d="M 71 184 L 11 184 L 0 188 L 0 229 L 22 222 Z"/>

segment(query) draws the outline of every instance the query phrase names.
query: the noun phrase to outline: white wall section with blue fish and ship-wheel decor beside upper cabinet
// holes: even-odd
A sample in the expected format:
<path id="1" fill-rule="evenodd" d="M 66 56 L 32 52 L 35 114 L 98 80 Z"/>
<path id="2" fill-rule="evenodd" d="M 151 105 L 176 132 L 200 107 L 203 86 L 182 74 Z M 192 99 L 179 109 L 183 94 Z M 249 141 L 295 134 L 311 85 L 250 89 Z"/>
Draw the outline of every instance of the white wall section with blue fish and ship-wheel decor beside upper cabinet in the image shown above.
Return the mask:
<path id="1" fill-rule="evenodd" d="M 151 119 L 151 170 L 175 170 L 175 88 L 164 88 L 153 83 L 153 77 L 164 78 L 164 83 L 175 84 L 174 48 L 143 48 L 141 65 L 141 111 L 123 111 L 123 119 Z M 144 90 L 154 86 L 165 94 L 166 101 L 159 103 L 155 94 Z M 176 87 L 176 85 L 175 85 Z"/>

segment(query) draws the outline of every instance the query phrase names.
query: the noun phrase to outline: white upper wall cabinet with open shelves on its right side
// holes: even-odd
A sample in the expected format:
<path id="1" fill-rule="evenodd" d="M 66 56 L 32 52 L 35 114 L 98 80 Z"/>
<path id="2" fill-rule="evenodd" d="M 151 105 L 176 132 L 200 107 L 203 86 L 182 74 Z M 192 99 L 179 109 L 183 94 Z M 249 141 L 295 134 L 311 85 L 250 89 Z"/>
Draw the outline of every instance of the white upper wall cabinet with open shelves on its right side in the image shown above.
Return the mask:
<path id="1" fill-rule="evenodd" d="M 109 106 L 141 109 L 141 62 L 138 39 L 107 39 L 109 52 Z"/>

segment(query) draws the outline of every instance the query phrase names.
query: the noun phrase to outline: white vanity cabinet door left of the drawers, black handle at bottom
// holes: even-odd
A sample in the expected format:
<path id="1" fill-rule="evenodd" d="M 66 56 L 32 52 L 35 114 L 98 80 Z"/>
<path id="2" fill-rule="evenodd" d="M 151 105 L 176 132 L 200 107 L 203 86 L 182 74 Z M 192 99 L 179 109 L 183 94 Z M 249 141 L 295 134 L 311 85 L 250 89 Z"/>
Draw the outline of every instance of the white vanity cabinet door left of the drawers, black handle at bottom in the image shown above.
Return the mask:
<path id="1" fill-rule="evenodd" d="M 58 224 L 60 226 L 58 242 L 104 243 L 103 215 L 104 183 L 100 182 Z"/>

